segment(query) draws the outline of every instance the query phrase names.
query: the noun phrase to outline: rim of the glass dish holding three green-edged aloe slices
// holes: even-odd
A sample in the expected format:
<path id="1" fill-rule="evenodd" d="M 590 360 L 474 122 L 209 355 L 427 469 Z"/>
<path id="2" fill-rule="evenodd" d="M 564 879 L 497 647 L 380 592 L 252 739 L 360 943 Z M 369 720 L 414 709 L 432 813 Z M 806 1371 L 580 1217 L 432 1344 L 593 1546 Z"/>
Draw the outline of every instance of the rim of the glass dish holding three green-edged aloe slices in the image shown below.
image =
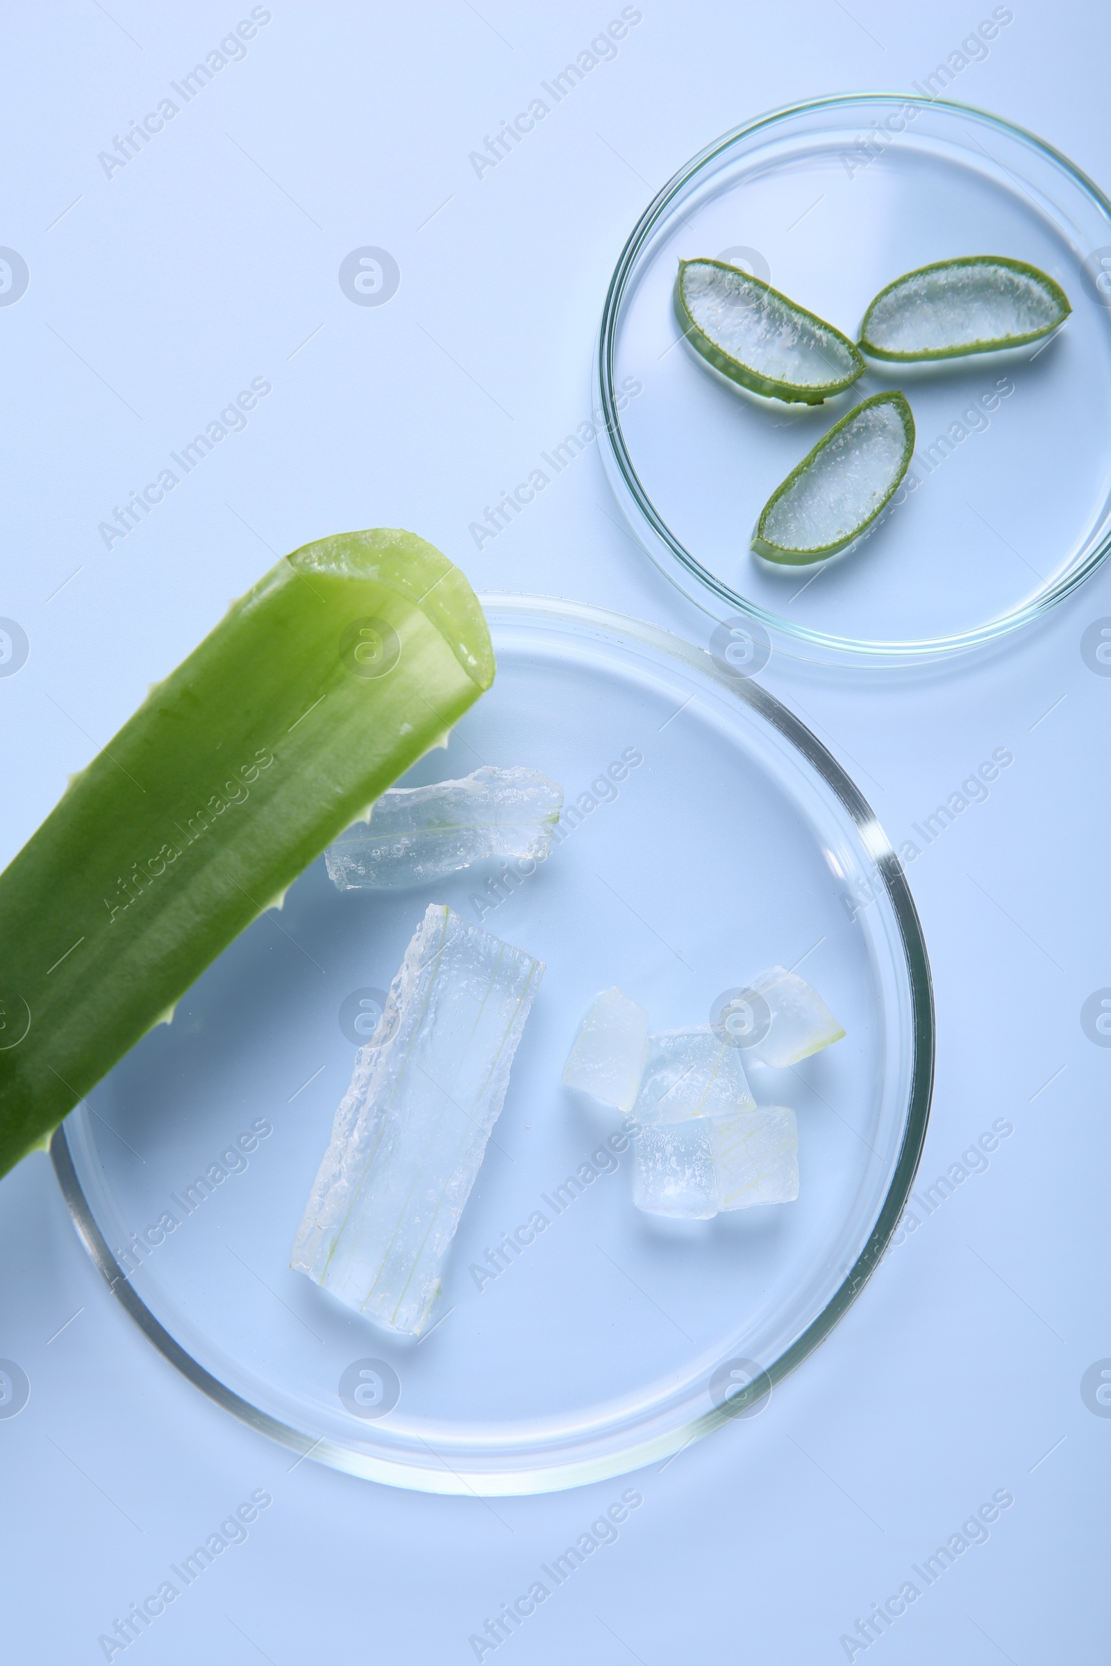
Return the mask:
<path id="1" fill-rule="evenodd" d="M 698 558 L 675 536 L 663 516 L 656 511 L 651 498 L 645 491 L 636 468 L 633 465 L 628 445 L 625 441 L 625 433 L 621 430 L 621 418 L 618 410 L 616 390 L 615 390 L 615 350 L 616 350 L 616 328 L 621 312 L 621 303 L 625 293 L 633 277 L 633 268 L 636 258 L 650 240 L 650 237 L 660 227 L 665 213 L 675 202 L 675 198 L 685 190 L 685 187 L 715 158 L 726 152 L 731 145 L 738 143 L 741 138 L 758 133 L 761 128 L 775 127 L 780 122 L 786 122 L 791 117 L 810 115 L 821 110 L 844 108 L 853 105 L 868 103 L 891 103 L 891 105 L 908 105 L 916 103 L 919 107 L 928 107 L 931 110 L 944 110 L 961 117 L 976 117 L 986 122 L 989 127 L 998 128 L 1011 138 L 1018 138 L 1021 143 L 1028 145 L 1034 152 L 1039 152 L 1053 165 L 1068 173 L 1073 182 L 1094 202 L 1099 212 L 1108 218 L 1111 227 L 1111 200 L 1099 190 L 1096 182 L 1089 178 L 1083 168 L 1078 168 L 1064 152 L 1058 150 L 1054 145 L 1046 143 L 1029 128 L 1019 127 L 1016 122 L 1008 122 L 1004 117 L 994 115 L 991 110 L 983 110 L 979 105 L 961 103 L 954 98 L 919 98 L 911 93 L 896 92 L 856 92 L 856 93 L 825 93 L 821 98 L 806 98 L 800 103 L 780 105 L 775 110 L 766 110 L 763 115 L 753 117 L 743 122 L 740 127 L 730 128 L 720 138 L 715 138 L 710 145 L 700 150 L 690 158 L 671 178 L 656 192 L 648 207 L 643 210 L 636 220 L 633 230 L 630 232 L 621 253 L 618 255 L 616 267 L 613 268 L 613 277 L 606 288 L 606 298 L 601 308 L 601 322 L 598 327 L 598 338 L 595 348 L 595 388 L 598 405 L 603 415 L 603 425 L 600 438 L 605 441 L 603 460 L 606 465 L 616 468 L 618 478 L 625 493 L 636 511 L 636 521 L 633 521 L 633 533 L 641 550 L 665 575 L 671 583 L 691 601 L 700 606 L 705 613 L 713 618 L 713 598 L 725 603 L 731 611 L 741 613 L 755 620 L 761 630 L 771 631 L 773 638 L 778 636 L 780 641 L 795 643 L 798 646 L 806 646 L 813 650 L 811 655 L 798 655 L 800 658 L 818 658 L 823 663 L 841 663 L 854 665 L 863 668 L 903 668 L 909 665 L 936 663 L 941 658 L 949 658 L 961 653 L 969 653 L 978 648 L 984 648 L 989 643 L 996 643 L 1008 636 L 1014 630 L 1021 630 L 1024 625 L 1033 623 L 1041 618 L 1059 601 L 1064 601 L 1073 595 L 1086 580 L 1096 571 L 1098 566 L 1106 561 L 1111 555 L 1111 530 L 1099 540 L 1099 543 L 1089 550 L 1084 561 L 1066 573 L 1056 585 L 1053 585 L 1044 595 L 1036 596 L 1024 606 L 1006 613 L 1003 618 L 991 620 L 988 625 L 979 625 L 968 631 L 959 631 L 953 636 L 933 636 L 923 638 L 919 641 L 903 640 L 903 641 L 873 641 L 868 638 L 854 636 L 836 636 L 826 631 L 813 630 L 808 625 L 793 625 L 790 620 L 783 618 L 780 613 L 771 613 L 768 608 L 761 608 L 753 601 L 748 601 L 738 591 L 731 590 L 723 580 L 715 578 L 715 575 L 698 561 Z M 606 466 L 606 473 L 610 468 Z M 620 501 L 625 510 L 625 503 Z M 628 515 L 626 515 L 628 520 Z M 646 526 L 656 545 L 661 545 L 668 551 L 670 561 L 673 561 L 681 573 L 690 575 L 696 580 L 698 590 L 688 588 L 681 578 L 670 571 L 670 566 L 660 560 L 660 556 L 645 543 L 641 536 L 641 528 Z M 785 651 L 788 651 L 785 648 Z"/>

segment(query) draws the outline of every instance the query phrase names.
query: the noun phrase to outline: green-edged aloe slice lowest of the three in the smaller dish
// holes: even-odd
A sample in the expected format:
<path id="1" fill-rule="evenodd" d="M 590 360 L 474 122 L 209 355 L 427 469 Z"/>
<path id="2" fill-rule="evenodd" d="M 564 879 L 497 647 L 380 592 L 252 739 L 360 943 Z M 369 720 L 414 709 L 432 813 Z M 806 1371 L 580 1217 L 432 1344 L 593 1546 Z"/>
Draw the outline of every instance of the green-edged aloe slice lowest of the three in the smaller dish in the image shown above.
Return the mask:
<path id="1" fill-rule="evenodd" d="M 901 393 L 854 405 L 771 493 L 753 550 L 786 566 L 836 555 L 879 515 L 913 451 L 914 418 Z"/>

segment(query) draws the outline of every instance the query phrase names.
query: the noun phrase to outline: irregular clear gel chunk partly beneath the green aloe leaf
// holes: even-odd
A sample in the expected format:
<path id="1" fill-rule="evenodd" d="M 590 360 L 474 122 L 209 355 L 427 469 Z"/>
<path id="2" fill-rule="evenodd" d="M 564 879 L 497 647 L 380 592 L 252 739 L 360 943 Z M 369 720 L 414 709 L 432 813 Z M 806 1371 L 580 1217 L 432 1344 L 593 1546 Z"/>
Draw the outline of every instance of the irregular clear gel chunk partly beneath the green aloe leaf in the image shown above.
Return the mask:
<path id="1" fill-rule="evenodd" d="M 325 851 L 338 890 L 425 885 L 490 856 L 543 861 L 563 788 L 540 770 L 483 765 L 461 781 L 393 786 L 370 828 L 348 828 Z"/>

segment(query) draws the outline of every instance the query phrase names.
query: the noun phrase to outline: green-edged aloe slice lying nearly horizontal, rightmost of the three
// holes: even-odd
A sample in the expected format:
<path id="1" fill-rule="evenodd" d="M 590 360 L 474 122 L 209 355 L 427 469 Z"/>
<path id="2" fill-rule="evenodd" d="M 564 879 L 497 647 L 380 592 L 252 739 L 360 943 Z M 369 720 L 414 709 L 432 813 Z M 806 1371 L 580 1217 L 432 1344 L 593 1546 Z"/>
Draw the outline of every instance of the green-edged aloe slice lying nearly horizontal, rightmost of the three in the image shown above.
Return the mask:
<path id="1" fill-rule="evenodd" d="M 869 358 L 963 358 L 1038 342 L 1071 313 L 1059 283 L 1023 260 L 939 260 L 879 290 L 859 328 Z"/>

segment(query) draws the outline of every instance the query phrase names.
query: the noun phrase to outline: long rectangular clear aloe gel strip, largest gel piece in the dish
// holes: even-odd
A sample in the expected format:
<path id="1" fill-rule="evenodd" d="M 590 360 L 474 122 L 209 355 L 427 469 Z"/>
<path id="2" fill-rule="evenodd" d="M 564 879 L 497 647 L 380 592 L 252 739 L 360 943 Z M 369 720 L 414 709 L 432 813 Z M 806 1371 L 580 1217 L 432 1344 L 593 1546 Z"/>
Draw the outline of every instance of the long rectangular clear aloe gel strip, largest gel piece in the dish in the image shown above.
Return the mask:
<path id="1" fill-rule="evenodd" d="M 420 1336 L 543 963 L 431 905 L 360 1048 L 291 1268 Z"/>

